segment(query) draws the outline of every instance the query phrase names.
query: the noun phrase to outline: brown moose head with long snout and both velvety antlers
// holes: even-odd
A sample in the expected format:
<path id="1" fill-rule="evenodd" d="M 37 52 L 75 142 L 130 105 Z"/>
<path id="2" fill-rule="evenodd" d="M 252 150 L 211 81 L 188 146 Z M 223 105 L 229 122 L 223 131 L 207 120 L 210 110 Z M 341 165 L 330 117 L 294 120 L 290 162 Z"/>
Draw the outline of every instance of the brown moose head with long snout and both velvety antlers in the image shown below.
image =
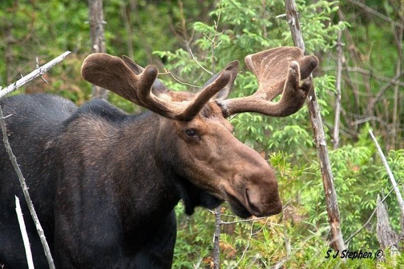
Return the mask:
<path id="1" fill-rule="evenodd" d="M 270 216 L 282 210 L 273 169 L 254 149 L 238 141 L 228 116 L 256 112 L 285 117 L 298 111 L 312 87 L 315 56 L 297 47 L 277 47 L 245 58 L 258 90 L 227 99 L 238 72 L 229 63 L 197 93 L 169 90 L 155 66 L 142 68 L 127 57 L 89 55 L 81 72 L 87 81 L 160 115 L 156 152 L 160 162 L 218 199 L 240 217 Z M 272 100 L 282 93 L 278 102 Z M 170 154 L 163 154 L 170 152 Z M 166 157 L 164 157 L 166 156 Z M 169 156 L 169 157 L 167 157 Z"/>

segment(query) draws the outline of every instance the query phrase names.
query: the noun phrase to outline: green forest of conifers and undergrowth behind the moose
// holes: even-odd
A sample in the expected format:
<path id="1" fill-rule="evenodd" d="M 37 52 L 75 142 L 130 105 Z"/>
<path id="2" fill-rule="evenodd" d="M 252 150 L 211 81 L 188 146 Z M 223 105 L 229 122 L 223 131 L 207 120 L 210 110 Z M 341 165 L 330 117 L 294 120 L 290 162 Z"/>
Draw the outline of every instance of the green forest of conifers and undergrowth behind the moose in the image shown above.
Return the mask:
<path id="1" fill-rule="evenodd" d="M 372 129 L 396 181 L 404 176 L 404 81 L 402 79 L 402 0 L 298 0 L 297 8 L 307 53 L 320 59 L 315 90 L 321 107 L 346 240 L 351 251 L 380 248 L 377 195 L 391 188 L 388 175 L 369 136 Z M 196 91 L 210 78 L 212 64 L 221 70 L 241 63 L 231 96 L 250 95 L 255 76 L 243 58 L 276 46 L 293 45 L 282 0 L 104 0 L 106 51 L 127 55 L 141 66 L 156 65 L 159 76 L 174 90 Z M 359 4 L 358 4 L 359 3 Z M 360 5 L 363 3 L 364 5 Z M 215 27 L 215 24 L 217 27 Z M 91 52 L 87 1 L 0 2 L 0 85 L 6 86 L 36 66 L 73 53 L 43 77 L 14 94 L 54 93 L 78 105 L 91 99 L 91 85 L 80 76 Z M 338 43 L 338 32 L 341 40 Z M 212 57 L 212 38 L 216 36 Z M 210 40 L 211 39 L 211 40 Z M 334 143 L 337 44 L 342 47 L 339 143 Z M 206 70 L 204 70 L 204 67 Z M 208 72 L 207 72 L 208 71 Z M 191 87 L 184 83 L 194 85 Z M 129 113 L 143 109 L 116 94 L 108 99 Z M 284 210 L 266 219 L 239 222 L 222 206 L 222 267 L 403 267 L 404 256 L 385 249 L 384 259 L 326 259 L 330 228 L 313 130 L 305 105 L 286 118 L 254 113 L 231 119 L 235 136 L 258 150 L 275 168 Z M 402 191 L 402 186 L 399 184 Z M 392 229 L 400 231 L 395 195 L 385 199 Z M 174 268 L 210 267 L 215 216 L 199 208 L 188 217 L 176 207 L 178 236 Z"/>

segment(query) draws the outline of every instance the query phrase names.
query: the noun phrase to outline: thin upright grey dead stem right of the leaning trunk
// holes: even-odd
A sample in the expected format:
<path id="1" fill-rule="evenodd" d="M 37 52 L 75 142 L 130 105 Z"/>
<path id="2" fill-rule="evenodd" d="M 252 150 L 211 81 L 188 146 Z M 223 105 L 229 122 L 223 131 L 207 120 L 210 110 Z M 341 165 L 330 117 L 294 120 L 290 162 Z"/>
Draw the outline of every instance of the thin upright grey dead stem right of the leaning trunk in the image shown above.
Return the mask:
<path id="1" fill-rule="evenodd" d="M 337 77 L 335 81 L 335 89 L 337 96 L 335 98 L 335 119 L 334 119 L 334 149 L 338 148 L 339 144 L 339 116 L 341 113 L 341 77 L 342 77 L 342 43 L 341 43 L 341 30 L 338 31 L 337 39 Z"/>

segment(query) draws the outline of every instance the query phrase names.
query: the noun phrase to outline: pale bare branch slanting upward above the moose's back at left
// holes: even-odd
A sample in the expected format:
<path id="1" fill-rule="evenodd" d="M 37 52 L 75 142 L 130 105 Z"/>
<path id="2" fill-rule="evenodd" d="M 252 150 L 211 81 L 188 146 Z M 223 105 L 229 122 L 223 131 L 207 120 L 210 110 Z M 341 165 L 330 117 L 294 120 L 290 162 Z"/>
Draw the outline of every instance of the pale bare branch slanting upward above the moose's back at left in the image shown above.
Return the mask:
<path id="1" fill-rule="evenodd" d="M 47 72 L 49 69 L 51 69 L 54 65 L 62 62 L 63 59 L 65 59 L 66 56 L 68 56 L 70 53 L 71 53 L 71 51 L 66 51 L 66 52 L 62 53 L 60 56 L 56 57 L 51 62 L 48 62 L 48 63 L 44 64 L 43 66 L 35 69 L 34 71 L 29 73 L 28 75 L 20 78 L 19 80 L 17 80 L 13 84 L 11 84 L 8 87 L 4 88 L 3 90 L 0 91 L 0 99 L 2 99 L 5 95 L 9 94 L 10 92 L 15 91 L 16 89 L 23 86 L 24 84 L 30 82 L 34 78 L 42 76 L 45 72 Z"/>

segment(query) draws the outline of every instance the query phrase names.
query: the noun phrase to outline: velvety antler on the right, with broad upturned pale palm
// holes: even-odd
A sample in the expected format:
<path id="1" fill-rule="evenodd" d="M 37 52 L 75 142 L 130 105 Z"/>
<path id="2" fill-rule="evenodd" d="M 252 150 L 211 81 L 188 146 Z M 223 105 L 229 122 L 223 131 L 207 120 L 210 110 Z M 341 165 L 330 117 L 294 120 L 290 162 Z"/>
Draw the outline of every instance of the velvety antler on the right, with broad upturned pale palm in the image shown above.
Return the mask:
<path id="1" fill-rule="evenodd" d="M 225 116 L 257 112 L 284 117 L 295 113 L 305 102 L 312 86 L 310 80 L 301 85 L 300 80 L 308 78 L 318 65 L 317 57 L 304 57 L 297 47 L 272 48 L 248 55 L 244 61 L 258 79 L 258 90 L 246 97 L 217 100 Z M 282 98 L 272 102 L 282 92 Z"/>

